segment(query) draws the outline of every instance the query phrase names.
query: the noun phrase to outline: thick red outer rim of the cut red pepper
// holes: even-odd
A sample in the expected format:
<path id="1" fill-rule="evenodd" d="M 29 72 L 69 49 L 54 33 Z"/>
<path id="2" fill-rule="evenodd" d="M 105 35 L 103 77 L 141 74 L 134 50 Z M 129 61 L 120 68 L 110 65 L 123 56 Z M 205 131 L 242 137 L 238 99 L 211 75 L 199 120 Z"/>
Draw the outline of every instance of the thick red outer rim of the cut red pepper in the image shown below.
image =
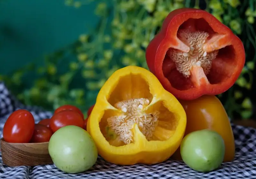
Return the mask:
<path id="1" fill-rule="evenodd" d="M 226 41 L 234 47 L 236 66 L 235 69 L 227 69 L 228 71 L 233 71 L 232 75 L 222 83 L 203 84 L 193 89 L 181 91 L 171 85 L 169 80 L 164 76 L 162 68 L 167 50 L 178 44 L 177 31 L 179 26 L 190 18 L 203 18 L 208 22 L 213 31 L 219 34 L 228 34 Z M 231 29 L 222 24 L 212 14 L 200 9 L 181 8 L 170 12 L 166 17 L 160 32 L 150 41 L 146 49 L 146 60 L 149 70 L 158 78 L 167 91 L 178 99 L 194 100 L 204 94 L 218 95 L 233 86 L 244 67 L 245 52 L 242 41 L 233 34 Z M 165 68 L 168 68 L 168 66 Z"/>

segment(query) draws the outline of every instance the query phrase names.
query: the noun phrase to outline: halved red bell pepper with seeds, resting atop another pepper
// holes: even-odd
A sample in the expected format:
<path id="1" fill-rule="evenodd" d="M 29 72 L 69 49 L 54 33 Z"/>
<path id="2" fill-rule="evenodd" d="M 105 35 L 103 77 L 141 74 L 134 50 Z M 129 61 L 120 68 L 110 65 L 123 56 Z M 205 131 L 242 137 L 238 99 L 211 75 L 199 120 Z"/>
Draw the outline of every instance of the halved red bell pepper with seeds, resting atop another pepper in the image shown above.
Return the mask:
<path id="1" fill-rule="evenodd" d="M 146 49 L 149 70 L 176 98 L 217 95 L 234 85 L 245 63 L 242 41 L 204 10 L 172 11 Z"/>

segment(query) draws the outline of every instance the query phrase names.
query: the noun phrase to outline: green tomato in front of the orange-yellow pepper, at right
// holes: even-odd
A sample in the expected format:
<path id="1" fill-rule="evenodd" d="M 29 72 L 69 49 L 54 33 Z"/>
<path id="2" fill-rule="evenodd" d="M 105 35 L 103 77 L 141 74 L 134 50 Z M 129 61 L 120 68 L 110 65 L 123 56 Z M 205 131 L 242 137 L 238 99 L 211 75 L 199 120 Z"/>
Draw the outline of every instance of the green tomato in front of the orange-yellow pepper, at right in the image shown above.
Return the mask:
<path id="1" fill-rule="evenodd" d="M 215 131 L 200 130 L 187 134 L 180 144 L 180 155 L 188 167 L 209 172 L 217 169 L 225 153 L 223 138 Z"/>

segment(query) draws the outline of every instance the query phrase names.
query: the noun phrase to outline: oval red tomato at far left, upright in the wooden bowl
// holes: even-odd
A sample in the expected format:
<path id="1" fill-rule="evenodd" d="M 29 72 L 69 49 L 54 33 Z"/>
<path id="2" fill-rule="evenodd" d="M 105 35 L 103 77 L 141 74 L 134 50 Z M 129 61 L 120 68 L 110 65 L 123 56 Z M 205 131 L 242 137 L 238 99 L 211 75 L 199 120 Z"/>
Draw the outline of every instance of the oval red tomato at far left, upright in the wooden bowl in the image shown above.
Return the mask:
<path id="1" fill-rule="evenodd" d="M 34 128 L 33 115 L 28 110 L 18 109 L 6 120 L 3 138 L 6 142 L 28 143 L 33 135 Z"/>

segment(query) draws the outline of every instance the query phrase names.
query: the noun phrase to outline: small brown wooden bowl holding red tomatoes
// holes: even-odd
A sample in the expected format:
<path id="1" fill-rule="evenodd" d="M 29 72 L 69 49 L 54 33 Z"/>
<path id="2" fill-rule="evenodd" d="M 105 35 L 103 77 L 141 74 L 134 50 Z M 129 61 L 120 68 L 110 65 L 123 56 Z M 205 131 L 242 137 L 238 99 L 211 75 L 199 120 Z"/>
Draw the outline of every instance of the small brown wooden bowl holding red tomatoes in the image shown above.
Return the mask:
<path id="1" fill-rule="evenodd" d="M 52 164 L 49 142 L 9 143 L 0 140 L 3 163 L 9 167 Z"/>

